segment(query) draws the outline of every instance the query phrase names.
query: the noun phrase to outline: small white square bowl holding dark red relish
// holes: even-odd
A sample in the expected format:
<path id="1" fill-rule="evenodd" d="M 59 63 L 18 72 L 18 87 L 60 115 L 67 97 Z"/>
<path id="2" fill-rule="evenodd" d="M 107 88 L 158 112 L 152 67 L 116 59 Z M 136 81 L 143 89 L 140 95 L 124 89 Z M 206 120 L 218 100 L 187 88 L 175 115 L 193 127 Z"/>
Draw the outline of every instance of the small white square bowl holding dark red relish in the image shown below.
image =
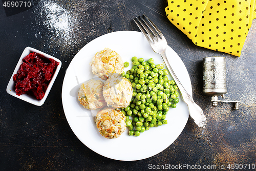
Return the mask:
<path id="1" fill-rule="evenodd" d="M 22 59 L 25 56 L 27 56 L 27 55 L 29 55 L 30 53 L 33 53 L 33 52 L 41 54 L 41 55 L 44 55 L 44 57 L 46 57 L 46 58 L 52 58 L 55 61 L 59 62 L 59 65 L 57 66 L 57 68 L 55 70 L 55 73 L 53 74 L 52 79 L 51 79 L 51 81 L 50 81 L 50 83 L 49 83 L 49 85 L 47 87 L 45 96 L 41 100 L 38 100 L 38 99 L 36 99 L 36 97 L 30 96 L 30 95 L 27 95 L 27 94 L 22 94 L 20 96 L 16 95 L 16 92 L 15 92 L 15 82 L 13 81 L 14 74 L 17 74 L 17 72 L 18 72 L 18 70 L 20 68 L 20 65 L 22 65 L 22 63 L 23 63 Z M 49 94 L 49 92 L 50 92 L 50 90 L 52 88 L 52 85 L 53 85 L 53 83 L 54 83 L 54 81 L 55 81 L 55 79 L 56 79 L 56 77 L 58 75 L 58 72 L 59 72 L 60 68 L 61 68 L 61 61 L 59 59 L 57 59 L 57 58 L 55 58 L 55 57 L 53 57 L 51 55 L 48 55 L 48 54 L 46 54 L 44 52 L 38 51 L 38 50 L 36 50 L 34 48 L 27 47 L 27 48 L 25 48 L 25 50 L 22 53 L 22 56 L 20 56 L 20 58 L 18 60 L 18 63 L 17 63 L 16 68 L 14 69 L 14 71 L 12 73 L 12 76 L 11 76 L 11 79 L 10 79 L 10 81 L 8 83 L 6 91 L 7 91 L 7 93 L 9 93 L 10 95 L 12 95 L 14 97 L 17 97 L 19 99 L 22 99 L 24 101 L 27 101 L 27 102 L 32 103 L 32 104 L 37 105 L 37 106 L 41 106 L 46 101 L 46 98 L 47 98 L 47 96 L 48 96 L 48 94 Z"/>

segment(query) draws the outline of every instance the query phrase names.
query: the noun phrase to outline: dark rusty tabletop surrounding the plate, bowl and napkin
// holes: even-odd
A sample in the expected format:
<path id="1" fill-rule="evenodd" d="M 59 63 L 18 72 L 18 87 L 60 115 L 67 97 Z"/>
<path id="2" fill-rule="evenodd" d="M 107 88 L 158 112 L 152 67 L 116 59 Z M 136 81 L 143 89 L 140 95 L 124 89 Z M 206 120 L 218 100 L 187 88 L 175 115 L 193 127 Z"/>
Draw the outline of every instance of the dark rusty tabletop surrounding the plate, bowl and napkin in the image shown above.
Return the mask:
<path id="1" fill-rule="evenodd" d="M 0 170 L 147 170 L 160 166 L 168 166 L 168 169 L 176 166 L 172 170 L 181 170 L 177 166 L 183 164 L 194 170 L 198 165 L 216 166 L 216 169 L 211 168 L 221 170 L 228 169 L 228 166 L 236 168 L 238 164 L 240 168 L 247 166 L 245 169 L 255 170 L 255 20 L 241 57 L 236 57 L 194 45 L 167 19 L 164 11 L 167 1 L 32 2 L 33 8 L 24 11 L 8 11 L 0 3 Z M 68 16 L 62 17 L 68 24 L 54 26 L 56 13 L 51 9 L 53 5 L 63 16 Z M 83 46 L 106 33 L 139 31 L 133 18 L 142 14 L 153 20 L 168 45 L 184 62 L 193 86 L 194 100 L 203 109 L 207 125 L 204 129 L 199 128 L 189 118 L 180 136 L 161 153 L 139 161 L 117 161 L 93 152 L 72 132 L 62 108 L 62 82 L 69 63 Z M 26 47 L 62 61 L 61 70 L 42 106 L 19 100 L 6 92 L 8 81 Z M 214 107 L 210 97 L 202 93 L 202 59 L 207 56 L 226 57 L 226 99 L 240 100 L 239 110 L 233 110 L 232 103 L 219 103 Z M 131 146 L 126 150 L 134 155 L 140 152 Z"/>

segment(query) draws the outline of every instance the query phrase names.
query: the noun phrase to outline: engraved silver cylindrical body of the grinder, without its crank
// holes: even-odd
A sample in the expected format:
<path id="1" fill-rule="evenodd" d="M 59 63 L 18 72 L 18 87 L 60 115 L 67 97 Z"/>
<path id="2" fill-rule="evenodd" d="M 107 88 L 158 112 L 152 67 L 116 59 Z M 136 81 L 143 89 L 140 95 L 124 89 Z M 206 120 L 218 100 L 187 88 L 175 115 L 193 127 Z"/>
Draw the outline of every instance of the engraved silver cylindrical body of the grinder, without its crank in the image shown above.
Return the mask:
<path id="1" fill-rule="evenodd" d="M 203 58 L 203 93 L 208 96 L 227 93 L 225 57 Z"/>

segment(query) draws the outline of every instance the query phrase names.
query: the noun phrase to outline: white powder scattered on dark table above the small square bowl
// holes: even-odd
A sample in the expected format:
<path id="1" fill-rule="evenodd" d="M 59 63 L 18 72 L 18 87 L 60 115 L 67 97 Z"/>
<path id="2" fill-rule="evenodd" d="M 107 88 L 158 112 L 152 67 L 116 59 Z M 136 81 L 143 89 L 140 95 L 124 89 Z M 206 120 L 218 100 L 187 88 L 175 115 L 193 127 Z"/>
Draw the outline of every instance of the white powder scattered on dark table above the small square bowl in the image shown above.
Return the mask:
<path id="1" fill-rule="evenodd" d="M 47 36 L 48 42 L 44 46 L 57 47 L 74 46 L 77 44 L 79 22 L 75 15 L 65 9 L 62 4 L 54 1 L 41 1 L 37 9 L 37 25 L 44 26 L 47 32 L 38 29 L 35 37 Z M 76 26 L 74 26 L 76 24 Z"/>

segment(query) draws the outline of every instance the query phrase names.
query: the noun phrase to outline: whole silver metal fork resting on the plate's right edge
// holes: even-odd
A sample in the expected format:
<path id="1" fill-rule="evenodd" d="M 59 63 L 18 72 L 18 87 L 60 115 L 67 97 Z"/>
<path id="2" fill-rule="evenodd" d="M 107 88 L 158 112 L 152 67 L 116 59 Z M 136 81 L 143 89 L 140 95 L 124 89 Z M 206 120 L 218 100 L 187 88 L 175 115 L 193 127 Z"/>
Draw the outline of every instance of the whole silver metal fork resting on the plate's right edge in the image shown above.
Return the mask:
<path id="1" fill-rule="evenodd" d="M 181 82 L 179 81 L 178 77 L 174 73 L 172 67 L 170 67 L 169 65 L 165 53 L 167 47 L 166 39 L 164 38 L 161 31 L 156 27 L 156 25 L 147 16 L 143 16 L 147 19 L 148 22 L 146 22 L 141 16 L 139 16 L 139 18 L 136 17 L 137 20 L 133 19 L 134 22 L 137 24 L 141 32 L 144 34 L 152 49 L 162 56 L 163 61 L 165 62 L 166 67 L 170 72 L 170 75 L 172 75 L 174 81 L 176 82 L 180 90 L 183 100 L 188 106 L 190 117 L 194 119 L 195 123 L 199 127 L 205 127 L 206 118 L 203 114 L 203 110 L 200 108 L 198 104 L 194 102 L 192 95 L 187 93 L 187 91 L 184 89 Z"/>

